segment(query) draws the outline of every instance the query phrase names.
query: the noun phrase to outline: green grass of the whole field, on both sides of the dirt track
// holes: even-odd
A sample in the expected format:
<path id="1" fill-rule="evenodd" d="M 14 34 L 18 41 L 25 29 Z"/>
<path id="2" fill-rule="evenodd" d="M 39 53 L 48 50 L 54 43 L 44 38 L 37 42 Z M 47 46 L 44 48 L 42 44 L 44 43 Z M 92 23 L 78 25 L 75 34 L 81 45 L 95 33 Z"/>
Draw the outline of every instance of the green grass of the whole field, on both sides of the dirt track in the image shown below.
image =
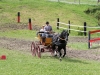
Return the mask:
<path id="1" fill-rule="evenodd" d="M 97 26 L 97 19 L 89 16 L 84 11 L 93 7 L 90 5 L 70 5 L 66 3 L 50 2 L 47 0 L 0 0 L 0 37 L 17 38 L 33 41 L 36 31 L 28 29 L 7 29 L 6 25 L 17 25 L 17 12 L 21 12 L 21 23 L 28 24 L 32 19 L 32 25 L 42 26 L 50 21 L 54 31 L 56 30 L 56 19 L 71 24 L 83 25 L 87 22 L 89 26 Z M 10 27 L 9 27 L 10 28 Z M 71 34 L 77 35 L 72 32 Z M 79 44 L 79 43 L 78 43 Z M 78 49 L 86 49 L 86 44 L 76 46 Z M 83 47 L 84 46 L 84 47 Z M 98 75 L 100 73 L 100 62 L 85 59 L 65 57 L 61 62 L 52 56 L 43 56 L 41 59 L 32 57 L 30 52 L 7 50 L 0 48 L 0 56 L 6 55 L 6 60 L 0 60 L 0 75 Z"/>

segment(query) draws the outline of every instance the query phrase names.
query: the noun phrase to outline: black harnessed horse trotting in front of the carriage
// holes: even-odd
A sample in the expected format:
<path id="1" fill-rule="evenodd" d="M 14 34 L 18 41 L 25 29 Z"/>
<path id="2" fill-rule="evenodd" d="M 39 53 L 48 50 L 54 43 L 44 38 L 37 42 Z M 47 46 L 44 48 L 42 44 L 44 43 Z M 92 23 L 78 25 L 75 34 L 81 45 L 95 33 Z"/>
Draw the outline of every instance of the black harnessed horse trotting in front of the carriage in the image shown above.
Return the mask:
<path id="1" fill-rule="evenodd" d="M 61 60 L 61 57 L 65 57 L 66 55 L 66 45 L 68 41 L 68 30 L 63 30 L 61 34 L 53 35 L 53 41 L 52 41 L 52 50 L 54 52 L 59 53 L 59 59 Z M 61 50 L 64 50 L 64 54 L 62 56 Z"/>

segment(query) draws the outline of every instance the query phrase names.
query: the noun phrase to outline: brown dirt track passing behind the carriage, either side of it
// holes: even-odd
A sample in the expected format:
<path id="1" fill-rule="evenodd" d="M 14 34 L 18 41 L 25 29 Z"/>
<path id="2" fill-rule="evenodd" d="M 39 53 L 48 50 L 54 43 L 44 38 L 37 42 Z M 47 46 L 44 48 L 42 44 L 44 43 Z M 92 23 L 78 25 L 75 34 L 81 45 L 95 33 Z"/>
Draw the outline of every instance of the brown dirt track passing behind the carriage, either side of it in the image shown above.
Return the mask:
<path id="1" fill-rule="evenodd" d="M 85 42 L 86 38 L 70 37 L 70 42 Z M 81 40 L 80 40 L 81 39 Z M 24 52 L 30 52 L 32 41 L 20 40 L 15 38 L 6 38 L 0 37 L 0 47 L 6 48 L 8 50 L 20 50 Z M 31 52 L 30 52 L 31 53 Z M 90 49 L 90 50 L 73 50 L 67 47 L 67 57 L 72 58 L 83 58 L 90 60 L 99 60 L 100 61 L 100 50 L 99 49 Z"/>

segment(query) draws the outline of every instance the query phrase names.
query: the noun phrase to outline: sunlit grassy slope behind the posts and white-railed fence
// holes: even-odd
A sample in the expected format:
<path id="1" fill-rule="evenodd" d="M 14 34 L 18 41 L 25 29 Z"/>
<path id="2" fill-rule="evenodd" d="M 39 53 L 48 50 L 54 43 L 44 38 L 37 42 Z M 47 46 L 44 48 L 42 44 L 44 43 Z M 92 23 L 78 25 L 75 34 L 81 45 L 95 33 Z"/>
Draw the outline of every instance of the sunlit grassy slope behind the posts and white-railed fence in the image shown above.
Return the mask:
<path id="1" fill-rule="evenodd" d="M 50 21 L 52 26 L 56 26 L 56 18 L 60 21 L 71 24 L 83 25 L 87 22 L 89 26 L 97 25 L 97 20 L 93 16 L 84 13 L 89 5 L 70 5 L 44 0 L 3 0 L 0 2 L 1 24 L 16 23 L 17 12 L 21 12 L 21 22 L 27 23 L 32 19 L 34 25 L 43 25 L 45 21 Z M 92 18 L 92 19 L 91 19 Z M 55 27 L 54 26 L 54 27 Z"/>

